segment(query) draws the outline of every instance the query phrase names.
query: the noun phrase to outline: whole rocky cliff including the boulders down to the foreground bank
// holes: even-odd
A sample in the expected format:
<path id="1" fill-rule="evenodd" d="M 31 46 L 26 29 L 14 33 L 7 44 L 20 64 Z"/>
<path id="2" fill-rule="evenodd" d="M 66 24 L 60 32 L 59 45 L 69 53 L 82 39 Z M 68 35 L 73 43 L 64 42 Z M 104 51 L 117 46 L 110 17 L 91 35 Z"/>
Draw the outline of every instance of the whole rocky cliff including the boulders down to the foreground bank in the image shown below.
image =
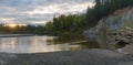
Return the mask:
<path id="1" fill-rule="evenodd" d="M 133 7 L 120 9 L 103 18 L 94 28 L 84 31 L 83 34 L 86 37 L 102 36 L 100 41 L 105 41 L 103 45 L 125 44 L 117 51 L 133 55 Z"/>

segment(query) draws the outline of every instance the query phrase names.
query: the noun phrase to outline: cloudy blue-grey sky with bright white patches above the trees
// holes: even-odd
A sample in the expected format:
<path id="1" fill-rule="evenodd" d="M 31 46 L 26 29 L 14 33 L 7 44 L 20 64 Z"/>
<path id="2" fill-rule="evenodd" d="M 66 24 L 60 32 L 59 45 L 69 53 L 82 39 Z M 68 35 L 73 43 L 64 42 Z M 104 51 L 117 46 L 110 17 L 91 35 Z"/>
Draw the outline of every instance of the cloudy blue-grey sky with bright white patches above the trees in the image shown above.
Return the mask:
<path id="1" fill-rule="evenodd" d="M 0 0 L 0 23 L 44 24 L 60 14 L 83 13 L 94 0 Z"/>

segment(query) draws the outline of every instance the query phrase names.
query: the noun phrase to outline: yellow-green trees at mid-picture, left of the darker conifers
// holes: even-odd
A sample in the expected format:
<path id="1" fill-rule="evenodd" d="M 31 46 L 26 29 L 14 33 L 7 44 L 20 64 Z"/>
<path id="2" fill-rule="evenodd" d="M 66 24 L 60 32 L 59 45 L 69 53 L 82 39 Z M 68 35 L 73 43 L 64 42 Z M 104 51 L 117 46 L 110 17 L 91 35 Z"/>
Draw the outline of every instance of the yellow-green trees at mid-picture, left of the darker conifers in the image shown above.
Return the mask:
<path id="1" fill-rule="evenodd" d="M 53 18 L 53 22 L 48 22 L 45 30 L 55 35 L 79 34 L 82 33 L 85 24 L 85 14 L 62 14 L 58 18 Z"/>

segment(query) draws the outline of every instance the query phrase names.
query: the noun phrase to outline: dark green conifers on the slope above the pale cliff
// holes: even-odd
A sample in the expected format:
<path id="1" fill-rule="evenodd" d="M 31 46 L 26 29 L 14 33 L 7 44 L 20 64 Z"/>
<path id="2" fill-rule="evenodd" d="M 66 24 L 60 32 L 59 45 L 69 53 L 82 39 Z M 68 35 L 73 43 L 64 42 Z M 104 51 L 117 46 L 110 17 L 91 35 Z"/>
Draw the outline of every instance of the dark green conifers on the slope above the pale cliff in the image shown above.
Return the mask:
<path id="1" fill-rule="evenodd" d="M 117 9 L 133 6 L 133 0 L 106 0 L 101 2 L 95 0 L 95 7 L 86 10 L 86 21 L 89 25 L 96 24 L 102 18 L 113 13 Z"/>

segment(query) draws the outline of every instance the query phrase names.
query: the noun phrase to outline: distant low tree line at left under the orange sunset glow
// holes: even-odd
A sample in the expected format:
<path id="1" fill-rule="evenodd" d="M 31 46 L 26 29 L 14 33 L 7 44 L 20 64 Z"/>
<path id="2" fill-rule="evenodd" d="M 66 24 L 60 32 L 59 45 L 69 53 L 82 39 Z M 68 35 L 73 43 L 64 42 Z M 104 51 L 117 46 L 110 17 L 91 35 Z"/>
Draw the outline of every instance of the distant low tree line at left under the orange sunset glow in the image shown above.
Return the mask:
<path id="1" fill-rule="evenodd" d="M 42 25 L 16 25 L 9 26 L 0 24 L 0 34 L 45 34 L 44 26 Z"/>

